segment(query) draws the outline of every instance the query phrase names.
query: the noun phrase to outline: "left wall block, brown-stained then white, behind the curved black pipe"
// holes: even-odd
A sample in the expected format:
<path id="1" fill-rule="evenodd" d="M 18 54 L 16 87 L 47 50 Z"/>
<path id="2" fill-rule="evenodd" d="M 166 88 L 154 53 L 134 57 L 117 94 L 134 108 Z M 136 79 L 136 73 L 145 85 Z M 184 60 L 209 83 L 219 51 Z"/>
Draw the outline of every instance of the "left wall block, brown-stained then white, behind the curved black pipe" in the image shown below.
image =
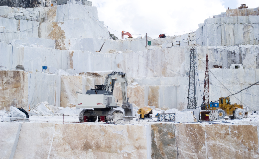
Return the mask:
<path id="1" fill-rule="evenodd" d="M 10 106 L 33 108 L 40 102 L 60 106 L 61 77 L 56 74 L 0 71 L 0 110 Z"/>

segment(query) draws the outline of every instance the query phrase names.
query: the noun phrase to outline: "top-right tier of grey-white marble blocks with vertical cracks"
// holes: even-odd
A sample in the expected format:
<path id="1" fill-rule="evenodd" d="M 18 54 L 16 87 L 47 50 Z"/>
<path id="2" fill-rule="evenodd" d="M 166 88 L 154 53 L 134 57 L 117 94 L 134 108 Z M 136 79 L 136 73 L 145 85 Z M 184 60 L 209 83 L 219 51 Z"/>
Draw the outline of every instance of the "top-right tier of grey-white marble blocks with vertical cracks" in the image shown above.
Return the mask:
<path id="1" fill-rule="evenodd" d="M 199 24 L 196 43 L 201 46 L 259 44 L 259 16 L 209 18 Z"/>

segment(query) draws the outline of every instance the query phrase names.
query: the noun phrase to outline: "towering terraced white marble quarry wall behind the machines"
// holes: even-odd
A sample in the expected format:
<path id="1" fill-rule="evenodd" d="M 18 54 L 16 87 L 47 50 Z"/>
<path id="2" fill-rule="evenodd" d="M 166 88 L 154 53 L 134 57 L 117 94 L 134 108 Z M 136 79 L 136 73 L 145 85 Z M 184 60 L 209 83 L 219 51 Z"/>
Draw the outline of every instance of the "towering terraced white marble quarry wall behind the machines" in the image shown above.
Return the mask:
<path id="1" fill-rule="evenodd" d="M 257 9 L 246 9 L 246 12 L 256 12 Z M 33 83 L 25 84 L 28 87 L 26 105 L 45 100 L 62 107 L 75 104 L 76 91 L 85 92 L 95 84 L 103 84 L 104 77 L 90 78 L 82 76 L 83 73 L 112 70 L 127 73 L 129 101 L 137 107 L 183 109 L 187 107 L 192 48 L 196 50 L 199 103 L 202 101 L 206 54 L 209 54 L 211 69 L 211 100 L 259 81 L 259 18 L 256 15 L 243 16 L 241 12 L 245 11 L 227 10 L 226 16 L 224 13 L 224 17 L 206 19 L 199 24 L 199 29 L 188 34 L 159 39 L 147 37 L 151 45 L 146 47 L 146 37 L 111 40 L 104 22 L 99 21 L 97 8 L 91 5 L 77 4 L 72 0 L 53 7 L 1 6 L 0 69 L 8 72 L 17 65 L 24 67 L 29 75 L 27 80 Z M 22 13 L 22 18 L 17 19 L 15 15 L 10 18 L 9 14 L 16 13 Z M 36 19 L 24 19 L 23 16 Z M 96 52 L 103 43 L 101 52 Z M 213 69 L 213 65 L 221 65 L 223 69 Z M 232 69 L 233 65 L 242 65 L 243 69 Z M 50 74 L 39 73 L 42 66 L 48 66 Z M 72 70 L 73 73 L 60 76 L 59 69 Z M 44 86 L 38 85 L 42 82 Z M 239 100 L 231 97 L 232 103 L 243 103 L 259 110 L 255 96 L 257 86 L 236 95 Z M 40 95 L 40 89 L 48 93 Z M 116 85 L 115 95 L 122 100 L 120 85 Z M 8 100 L 4 101 L 8 103 Z"/>

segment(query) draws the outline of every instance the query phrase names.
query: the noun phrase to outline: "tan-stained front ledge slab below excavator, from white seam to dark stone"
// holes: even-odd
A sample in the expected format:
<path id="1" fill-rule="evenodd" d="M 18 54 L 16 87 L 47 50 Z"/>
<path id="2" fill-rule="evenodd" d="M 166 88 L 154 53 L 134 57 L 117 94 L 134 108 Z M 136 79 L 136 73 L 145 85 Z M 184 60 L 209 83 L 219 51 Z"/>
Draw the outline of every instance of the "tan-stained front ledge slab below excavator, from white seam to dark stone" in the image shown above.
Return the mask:
<path id="1" fill-rule="evenodd" d="M 150 133 L 148 125 L 57 124 L 49 159 L 147 159 L 147 129 Z"/>

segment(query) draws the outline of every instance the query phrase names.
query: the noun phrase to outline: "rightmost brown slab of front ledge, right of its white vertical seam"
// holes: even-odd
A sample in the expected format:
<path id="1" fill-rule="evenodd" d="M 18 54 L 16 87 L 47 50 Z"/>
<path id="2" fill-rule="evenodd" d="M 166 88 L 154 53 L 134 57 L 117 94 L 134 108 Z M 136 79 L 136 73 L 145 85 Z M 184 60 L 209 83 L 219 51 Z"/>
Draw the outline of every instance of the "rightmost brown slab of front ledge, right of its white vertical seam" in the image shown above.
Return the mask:
<path id="1" fill-rule="evenodd" d="M 206 125 L 205 137 L 208 157 L 215 159 L 259 157 L 257 126 Z"/>

